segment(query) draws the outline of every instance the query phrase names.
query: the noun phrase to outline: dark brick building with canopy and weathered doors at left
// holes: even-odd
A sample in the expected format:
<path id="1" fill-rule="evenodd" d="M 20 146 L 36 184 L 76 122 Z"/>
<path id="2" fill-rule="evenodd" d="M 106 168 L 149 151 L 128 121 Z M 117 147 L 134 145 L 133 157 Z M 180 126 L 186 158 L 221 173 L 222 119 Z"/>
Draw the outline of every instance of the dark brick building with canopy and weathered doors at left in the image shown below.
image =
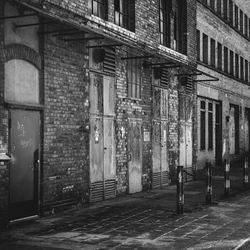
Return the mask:
<path id="1" fill-rule="evenodd" d="M 195 0 L 6 0 L 0 13 L 2 222 L 195 169 Z"/>

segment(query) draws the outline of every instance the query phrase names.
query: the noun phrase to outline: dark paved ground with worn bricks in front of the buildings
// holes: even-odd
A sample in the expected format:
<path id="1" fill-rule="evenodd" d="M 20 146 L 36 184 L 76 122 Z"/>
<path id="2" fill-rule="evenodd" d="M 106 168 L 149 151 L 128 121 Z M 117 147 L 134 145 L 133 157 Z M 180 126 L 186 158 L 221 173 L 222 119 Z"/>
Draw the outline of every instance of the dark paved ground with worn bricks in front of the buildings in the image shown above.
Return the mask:
<path id="1" fill-rule="evenodd" d="M 211 205 L 204 180 L 185 183 L 182 215 L 172 185 L 10 225 L 0 249 L 250 249 L 250 190 L 239 173 L 229 197 L 216 173 Z"/>

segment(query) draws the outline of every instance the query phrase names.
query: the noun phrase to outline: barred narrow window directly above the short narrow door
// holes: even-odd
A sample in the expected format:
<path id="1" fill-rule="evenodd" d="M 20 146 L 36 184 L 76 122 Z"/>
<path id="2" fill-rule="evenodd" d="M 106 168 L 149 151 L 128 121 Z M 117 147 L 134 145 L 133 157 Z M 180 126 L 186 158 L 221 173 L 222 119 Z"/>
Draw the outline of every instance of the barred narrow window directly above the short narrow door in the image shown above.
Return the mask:
<path id="1" fill-rule="evenodd" d="M 128 97 L 141 98 L 141 61 L 130 59 L 127 61 Z"/>

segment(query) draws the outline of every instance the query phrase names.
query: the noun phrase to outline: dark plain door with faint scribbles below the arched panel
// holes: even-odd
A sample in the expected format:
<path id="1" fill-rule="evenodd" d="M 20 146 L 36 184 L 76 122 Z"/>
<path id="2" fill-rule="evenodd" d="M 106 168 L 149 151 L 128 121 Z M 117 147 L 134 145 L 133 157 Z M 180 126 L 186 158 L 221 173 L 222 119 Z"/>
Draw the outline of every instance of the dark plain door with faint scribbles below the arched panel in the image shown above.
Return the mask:
<path id="1" fill-rule="evenodd" d="M 10 111 L 10 219 L 38 214 L 40 113 Z"/>

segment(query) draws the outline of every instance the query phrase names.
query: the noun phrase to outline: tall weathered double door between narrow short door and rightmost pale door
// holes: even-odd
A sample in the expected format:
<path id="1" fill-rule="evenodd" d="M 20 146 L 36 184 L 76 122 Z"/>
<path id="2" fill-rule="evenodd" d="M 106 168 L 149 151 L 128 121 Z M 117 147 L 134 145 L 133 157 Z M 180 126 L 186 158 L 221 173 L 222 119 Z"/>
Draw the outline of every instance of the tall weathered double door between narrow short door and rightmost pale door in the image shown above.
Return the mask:
<path id="1" fill-rule="evenodd" d="M 152 121 L 152 188 L 161 187 L 168 183 L 167 119 L 168 92 L 165 89 L 155 87 L 153 90 Z"/>

